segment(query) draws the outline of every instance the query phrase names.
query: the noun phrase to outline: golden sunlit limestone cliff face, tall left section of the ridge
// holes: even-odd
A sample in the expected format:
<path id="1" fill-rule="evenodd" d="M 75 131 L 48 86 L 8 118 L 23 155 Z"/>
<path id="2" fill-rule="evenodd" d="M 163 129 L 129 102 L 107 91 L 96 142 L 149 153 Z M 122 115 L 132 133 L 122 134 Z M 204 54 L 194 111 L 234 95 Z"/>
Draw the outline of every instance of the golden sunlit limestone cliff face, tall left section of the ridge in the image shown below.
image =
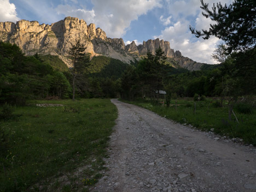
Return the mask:
<path id="1" fill-rule="evenodd" d="M 59 55 L 70 67 L 68 50 L 75 39 L 81 39 L 87 47 L 86 52 L 96 55 L 90 37 L 96 36 L 95 26 L 87 26 L 84 20 L 65 18 L 51 25 L 39 25 L 37 21 L 21 20 L 0 22 L 0 40 L 17 44 L 26 55 Z"/>

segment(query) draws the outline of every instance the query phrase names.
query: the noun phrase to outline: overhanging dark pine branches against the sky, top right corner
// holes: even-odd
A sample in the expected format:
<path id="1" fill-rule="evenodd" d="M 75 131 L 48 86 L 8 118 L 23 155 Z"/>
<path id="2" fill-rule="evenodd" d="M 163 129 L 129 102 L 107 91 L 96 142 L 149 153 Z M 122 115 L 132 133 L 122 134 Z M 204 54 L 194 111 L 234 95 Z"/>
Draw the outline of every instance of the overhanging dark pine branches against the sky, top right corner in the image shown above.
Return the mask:
<path id="1" fill-rule="evenodd" d="M 201 0 L 202 15 L 210 18 L 216 23 L 210 29 L 195 30 L 190 26 L 190 30 L 196 37 L 203 36 L 208 39 L 216 36 L 224 40 L 227 45 L 228 54 L 232 51 L 246 51 L 255 48 L 256 43 L 256 2 L 254 0 L 235 0 L 230 5 L 213 4 L 212 10 L 208 8 L 208 3 Z"/>

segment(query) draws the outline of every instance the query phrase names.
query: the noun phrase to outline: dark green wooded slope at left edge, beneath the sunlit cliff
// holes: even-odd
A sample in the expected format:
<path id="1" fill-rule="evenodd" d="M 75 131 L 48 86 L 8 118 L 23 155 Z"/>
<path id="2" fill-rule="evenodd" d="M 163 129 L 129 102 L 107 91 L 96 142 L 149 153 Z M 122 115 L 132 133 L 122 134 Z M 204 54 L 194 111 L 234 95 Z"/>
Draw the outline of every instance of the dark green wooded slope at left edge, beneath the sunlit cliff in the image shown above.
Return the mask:
<path id="1" fill-rule="evenodd" d="M 0 103 L 25 104 L 27 99 L 66 98 L 69 83 L 38 55 L 24 56 L 17 45 L 0 42 Z M 53 83 L 52 80 L 55 79 Z M 56 90 L 56 84 L 62 84 Z"/>

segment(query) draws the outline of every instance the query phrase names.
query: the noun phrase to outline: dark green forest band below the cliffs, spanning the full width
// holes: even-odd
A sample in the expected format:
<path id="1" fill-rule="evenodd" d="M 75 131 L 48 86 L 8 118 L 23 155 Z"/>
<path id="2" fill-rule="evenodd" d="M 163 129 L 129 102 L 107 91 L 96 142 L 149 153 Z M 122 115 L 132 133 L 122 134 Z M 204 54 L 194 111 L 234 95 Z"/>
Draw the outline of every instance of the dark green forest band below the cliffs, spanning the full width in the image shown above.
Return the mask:
<path id="1" fill-rule="evenodd" d="M 172 96 L 242 96 L 256 94 L 255 51 L 234 53 L 218 68 L 189 72 L 173 68 L 163 51 L 148 53 L 127 65 L 94 57 L 75 77 L 75 98 L 154 98 L 159 90 Z M 17 45 L 0 43 L 0 103 L 24 104 L 28 99 L 72 98 L 72 73 L 57 56 L 25 56 Z M 87 63 L 88 64 L 88 63 Z M 86 64 L 86 65 L 87 65 Z"/>

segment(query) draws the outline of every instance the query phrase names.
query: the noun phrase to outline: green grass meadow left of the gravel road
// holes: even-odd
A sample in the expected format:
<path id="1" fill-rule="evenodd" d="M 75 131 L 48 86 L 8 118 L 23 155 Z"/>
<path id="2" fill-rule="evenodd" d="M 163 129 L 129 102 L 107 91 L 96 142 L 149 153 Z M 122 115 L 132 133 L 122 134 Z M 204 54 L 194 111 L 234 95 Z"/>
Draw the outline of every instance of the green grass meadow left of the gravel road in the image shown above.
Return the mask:
<path id="1" fill-rule="evenodd" d="M 104 169 L 117 108 L 101 99 L 29 104 L 0 121 L 0 191 L 88 191 Z"/>

